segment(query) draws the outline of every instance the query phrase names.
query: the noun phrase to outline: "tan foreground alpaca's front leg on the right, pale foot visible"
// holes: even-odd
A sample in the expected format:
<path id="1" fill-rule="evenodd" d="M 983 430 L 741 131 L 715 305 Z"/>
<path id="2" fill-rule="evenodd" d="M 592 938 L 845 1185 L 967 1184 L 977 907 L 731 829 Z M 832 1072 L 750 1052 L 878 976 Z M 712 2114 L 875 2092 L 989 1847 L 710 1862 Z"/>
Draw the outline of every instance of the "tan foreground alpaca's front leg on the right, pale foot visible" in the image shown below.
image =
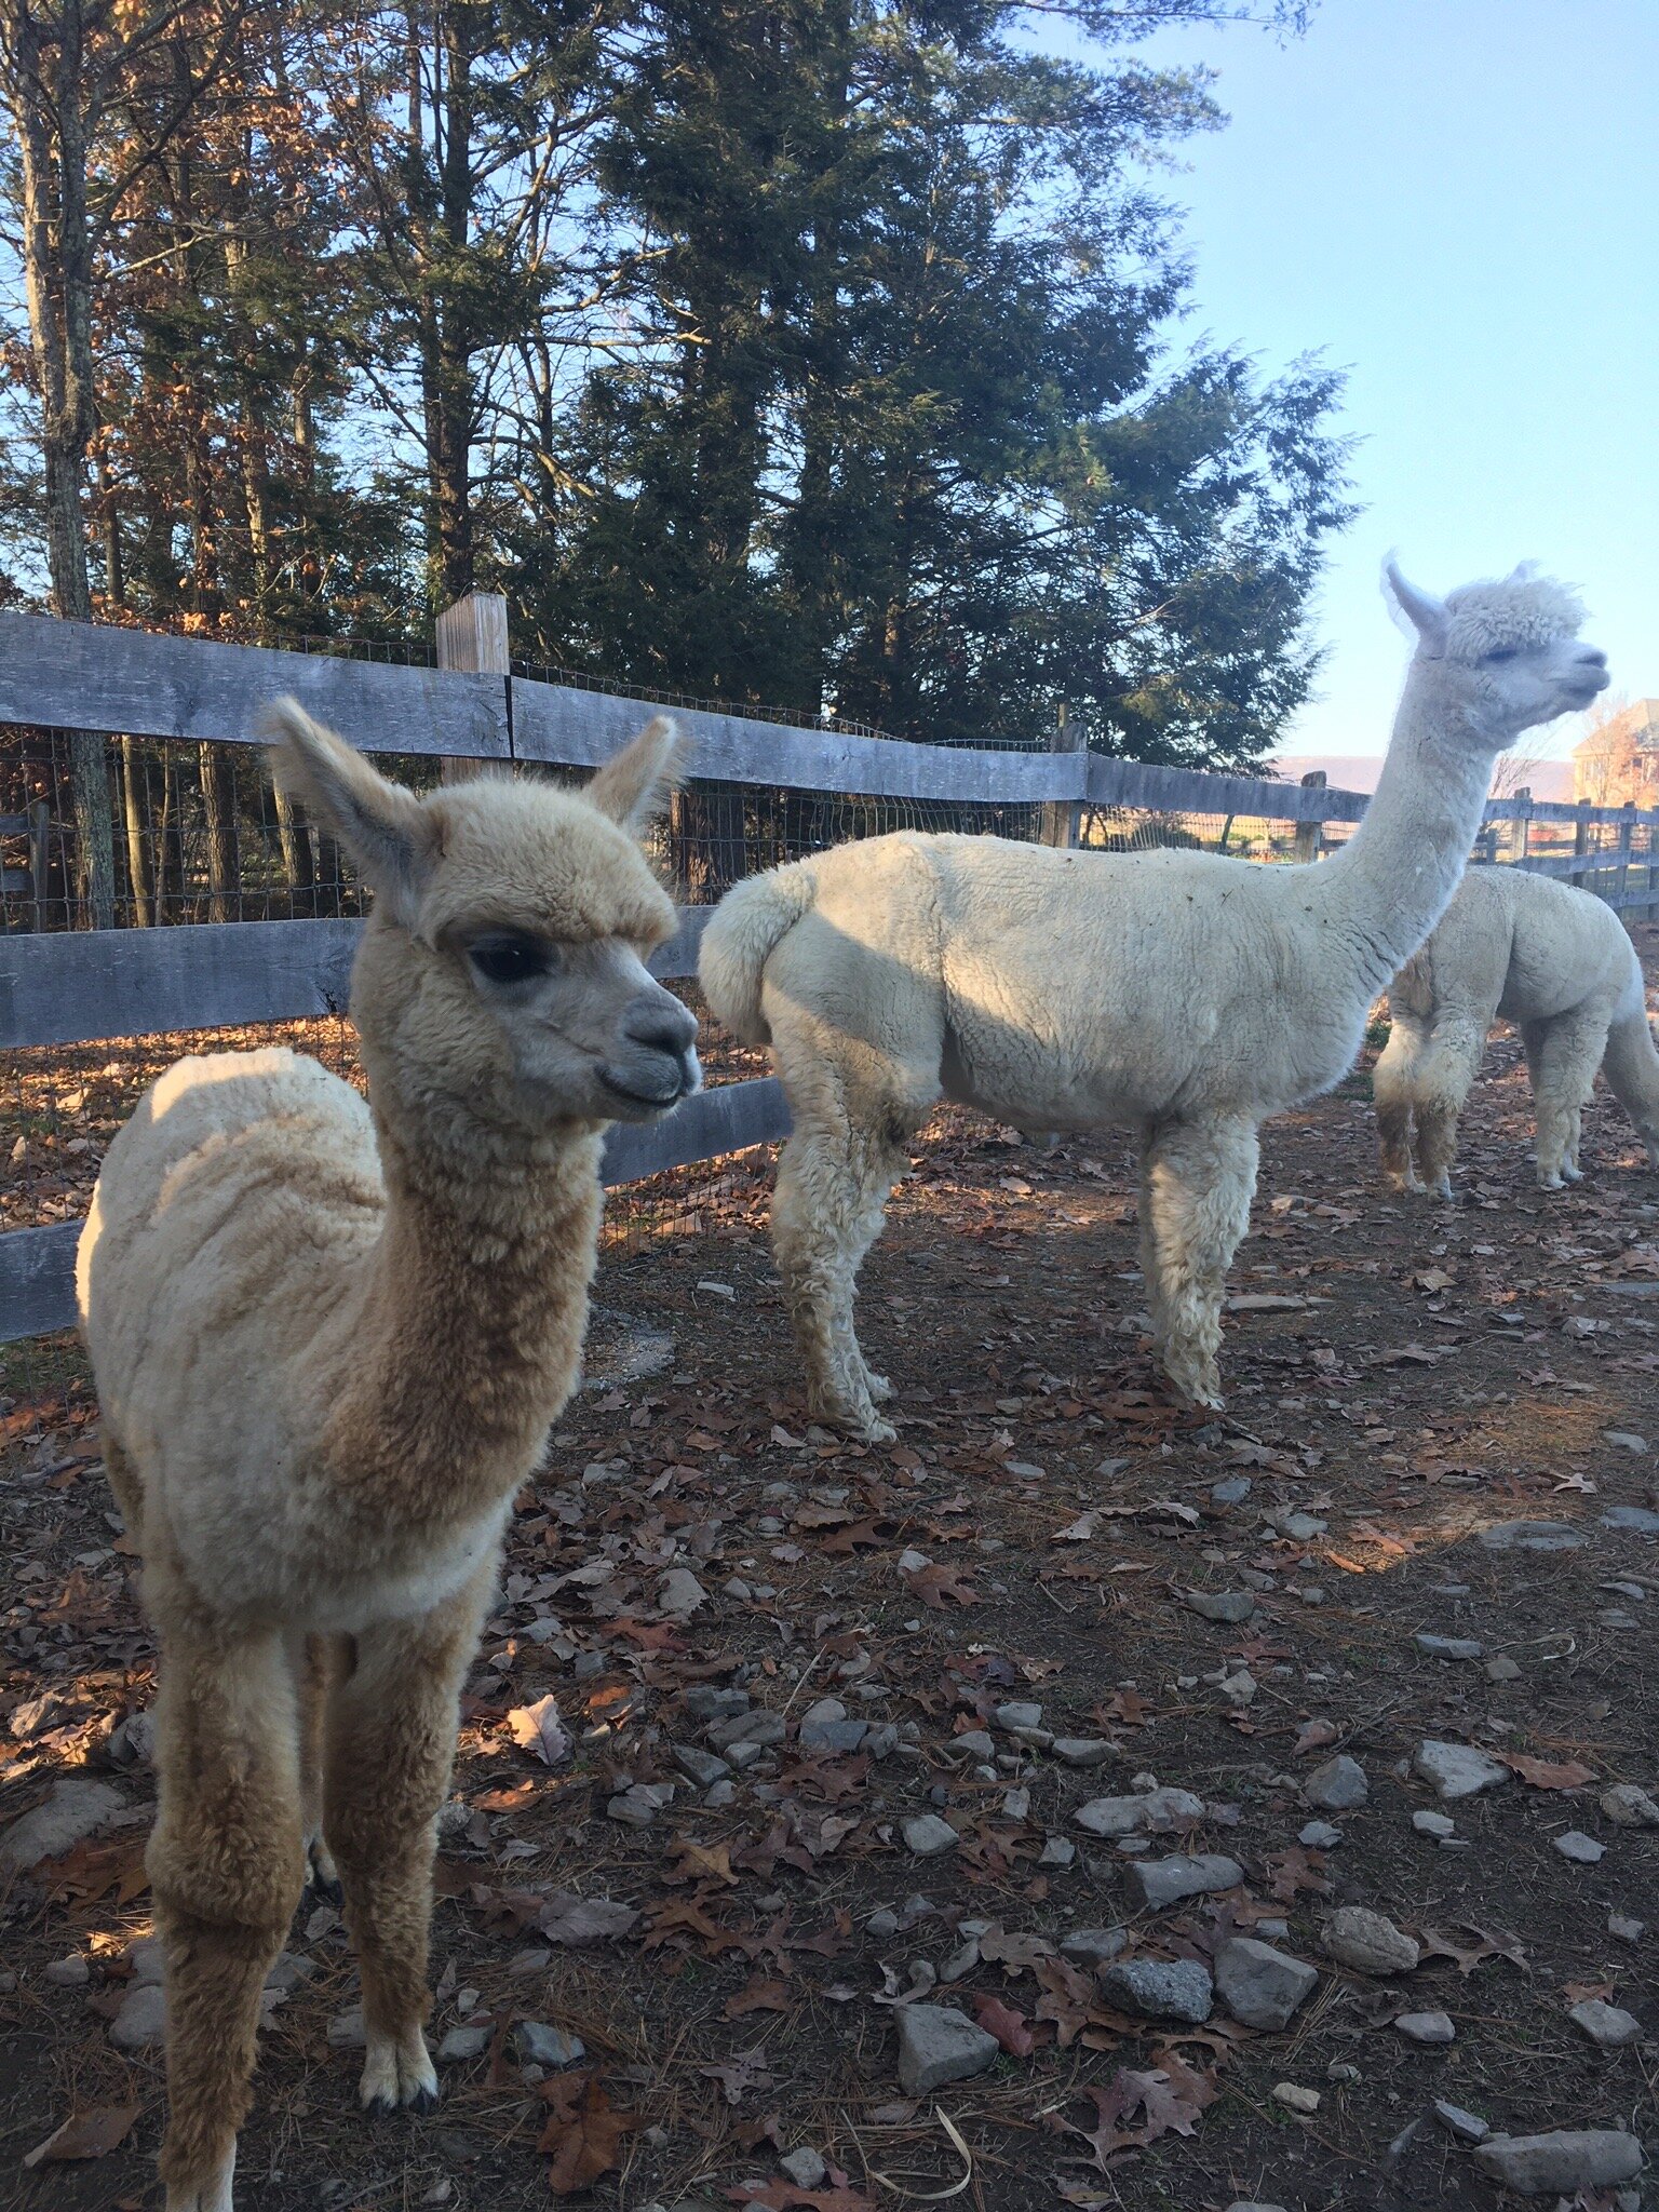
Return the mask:
<path id="1" fill-rule="evenodd" d="M 367 2057 L 358 2097 L 392 2110 L 438 2099 L 422 2026 L 438 1807 L 456 1759 L 460 1683 L 495 1579 L 354 1637 L 356 1666 L 327 1705 L 325 1825 L 363 1975 Z"/>

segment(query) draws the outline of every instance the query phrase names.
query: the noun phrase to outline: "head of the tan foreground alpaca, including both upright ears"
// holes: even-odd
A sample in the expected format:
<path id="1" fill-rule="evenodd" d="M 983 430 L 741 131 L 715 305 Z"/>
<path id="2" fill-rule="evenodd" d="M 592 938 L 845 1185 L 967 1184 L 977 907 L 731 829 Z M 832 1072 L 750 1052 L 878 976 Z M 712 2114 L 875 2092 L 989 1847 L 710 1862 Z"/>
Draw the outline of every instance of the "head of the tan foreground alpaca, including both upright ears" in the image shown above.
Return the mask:
<path id="1" fill-rule="evenodd" d="M 672 774 L 657 717 L 580 792 L 387 783 L 292 699 L 272 768 L 374 889 L 352 982 L 376 1099 L 538 1137 L 650 1121 L 701 1082 L 697 1020 L 646 971 L 675 907 L 635 832 Z"/>

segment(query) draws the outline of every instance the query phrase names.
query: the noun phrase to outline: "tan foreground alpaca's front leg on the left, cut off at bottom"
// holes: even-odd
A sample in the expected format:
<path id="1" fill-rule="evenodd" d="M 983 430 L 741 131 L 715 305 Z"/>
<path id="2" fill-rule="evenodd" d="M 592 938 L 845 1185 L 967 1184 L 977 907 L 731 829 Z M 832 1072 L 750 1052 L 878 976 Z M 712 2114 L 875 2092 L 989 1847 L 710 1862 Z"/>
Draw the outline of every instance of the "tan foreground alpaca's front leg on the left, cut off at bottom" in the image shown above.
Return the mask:
<path id="1" fill-rule="evenodd" d="M 259 1993 L 301 1891 L 296 1710 L 279 1635 L 161 1637 L 146 1865 L 168 2011 L 168 2212 L 230 2212 Z"/>

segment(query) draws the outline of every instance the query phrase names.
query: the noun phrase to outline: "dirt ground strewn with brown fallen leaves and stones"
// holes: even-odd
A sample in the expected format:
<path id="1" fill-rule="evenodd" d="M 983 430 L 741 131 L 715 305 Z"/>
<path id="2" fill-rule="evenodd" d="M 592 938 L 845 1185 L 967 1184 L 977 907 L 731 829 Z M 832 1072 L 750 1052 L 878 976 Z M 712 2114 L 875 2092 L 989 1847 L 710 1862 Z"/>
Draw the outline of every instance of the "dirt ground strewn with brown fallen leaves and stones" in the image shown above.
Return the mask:
<path id="1" fill-rule="evenodd" d="M 860 1305 L 898 1385 L 896 1447 L 803 1418 L 763 1155 L 695 1232 L 613 1254 L 591 1385 L 520 1498 L 442 1823 L 434 2039 L 478 2028 L 458 2044 L 480 2048 L 442 2062 L 436 2115 L 358 2117 L 352 1958 L 307 1898 L 239 2201 L 1504 2203 L 1436 2099 L 1495 2130 L 1617 2126 L 1659 2150 L 1659 1933 L 1610 1929 L 1659 1924 L 1659 1827 L 1601 1809 L 1610 1785 L 1659 1785 L 1659 1179 L 1597 1097 L 1586 1181 L 1537 1192 L 1500 1040 L 1460 1203 L 1389 1199 L 1367 1093 L 1360 1073 L 1265 1133 L 1221 1418 L 1179 1413 L 1148 1360 L 1115 1133 L 1044 1152 L 942 1115 L 918 1146 Z M 133 1717 L 153 1655 L 84 1369 L 64 1354 L 31 1378 L 0 1400 L 0 1818 L 69 1770 L 122 1809 L 0 1902 L 0 2203 L 93 2212 L 159 2201 L 161 2055 L 108 2037 L 148 1933 Z M 1504 1548 L 1513 1522 L 1562 1524 L 1566 1548 Z M 664 1610 L 670 1571 L 697 1577 L 690 1617 Z M 1190 1590 L 1254 1610 L 1212 1621 Z M 1433 1657 L 1420 1635 L 1480 1652 Z M 783 1728 L 710 1803 L 672 1747 L 708 1750 L 712 1688 Z M 845 1747 L 821 1699 L 874 1734 Z M 1037 1741 L 998 1721 L 1011 1701 L 1042 1708 Z M 984 1730 L 989 1756 L 962 1741 Z M 1478 1745 L 1506 1776 L 1444 1807 L 1447 1840 L 1411 1820 L 1440 1809 L 1411 1772 L 1425 1741 Z M 1369 1796 L 1325 1814 L 1303 1783 L 1334 1754 Z M 1203 1809 L 1130 1851 L 1077 1825 L 1146 1776 Z M 922 1814 L 953 1832 L 940 1856 L 905 1838 Z M 1298 1843 L 1310 1818 L 1340 1840 Z M 1566 1832 L 1604 1856 L 1562 1856 Z M 1175 1849 L 1232 1856 L 1243 1880 L 1137 1911 L 1126 1869 Z M 1338 1966 L 1338 1905 L 1389 1916 L 1420 1964 Z M 1279 2033 L 1221 2002 L 1157 2026 L 1060 1951 L 1115 1927 L 1124 1958 L 1203 1964 L 1265 1929 L 1318 1986 Z M 1644 2039 L 1597 2048 L 1568 2017 L 1597 1995 Z M 905 2095 L 907 2002 L 978 2020 L 995 2062 Z M 1418 2044 L 1400 2013 L 1447 2013 L 1453 2039 Z M 584 2055 L 526 2066 L 524 2022 Z M 27 2168 L 75 2112 L 111 2112 L 115 2148 Z M 785 2172 L 801 2148 L 823 2177 Z"/>

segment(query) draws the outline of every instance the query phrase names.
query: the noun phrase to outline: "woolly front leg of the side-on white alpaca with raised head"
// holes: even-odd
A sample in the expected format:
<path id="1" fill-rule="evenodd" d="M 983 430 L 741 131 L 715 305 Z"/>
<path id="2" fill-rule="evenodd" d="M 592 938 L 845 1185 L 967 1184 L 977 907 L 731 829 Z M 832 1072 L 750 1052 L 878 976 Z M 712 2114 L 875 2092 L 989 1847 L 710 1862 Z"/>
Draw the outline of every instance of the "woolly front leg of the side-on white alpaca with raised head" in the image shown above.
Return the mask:
<path id="1" fill-rule="evenodd" d="M 1164 1121 L 1141 1152 L 1141 1267 L 1152 1340 L 1183 1398 L 1221 1405 L 1221 1303 L 1256 1192 L 1256 1124 Z"/>

